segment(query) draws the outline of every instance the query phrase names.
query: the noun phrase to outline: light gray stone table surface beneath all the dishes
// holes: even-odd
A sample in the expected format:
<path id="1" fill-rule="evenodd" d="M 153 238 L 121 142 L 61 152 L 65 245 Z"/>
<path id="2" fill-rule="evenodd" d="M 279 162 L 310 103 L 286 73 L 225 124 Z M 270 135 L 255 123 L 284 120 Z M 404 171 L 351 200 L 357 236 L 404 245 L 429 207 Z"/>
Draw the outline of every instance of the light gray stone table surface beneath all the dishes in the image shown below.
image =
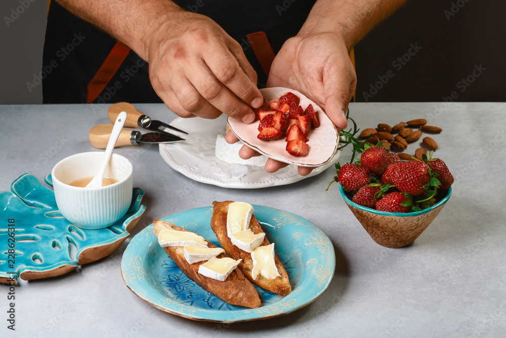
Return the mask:
<path id="1" fill-rule="evenodd" d="M 138 104 L 163 121 L 162 104 Z M 0 186 L 30 172 L 43 180 L 61 159 L 93 151 L 89 129 L 107 120 L 107 105 L 0 106 Z M 443 128 L 436 152 L 455 177 L 453 194 L 411 245 L 390 249 L 371 240 L 338 193 L 325 192 L 329 168 L 289 185 L 226 189 L 195 182 L 170 168 L 157 146 L 116 152 L 134 165 L 134 186 L 146 212 L 136 235 L 154 219 L 215 200 L 272 206 L 307 218 L 330 238 L 335 275 L 314 303 L 291 314 L 234 324 L 198 322 L 162 312 L 135 295 L 120 272 L 130 239 L 110 256 L 61 277 L 20 281 L 16 331 L 7 329 L 7 294 L 0 286 L 0 336 L 472 336 L 506 332 L 506 103 L 352 103 L 360 128 L 426 118 Z M 410 145 L 414 153 L 417 146 Z M 349 161 L 345 149 L 341 162 Z M 192 189 L 188 189 L 190 186 Z M 186 189 L 182 197 L 176 192 Z M 177 197 L 177 198 L 176 198 Z M 5 223 L 5 220 L 2 220 Z"/>

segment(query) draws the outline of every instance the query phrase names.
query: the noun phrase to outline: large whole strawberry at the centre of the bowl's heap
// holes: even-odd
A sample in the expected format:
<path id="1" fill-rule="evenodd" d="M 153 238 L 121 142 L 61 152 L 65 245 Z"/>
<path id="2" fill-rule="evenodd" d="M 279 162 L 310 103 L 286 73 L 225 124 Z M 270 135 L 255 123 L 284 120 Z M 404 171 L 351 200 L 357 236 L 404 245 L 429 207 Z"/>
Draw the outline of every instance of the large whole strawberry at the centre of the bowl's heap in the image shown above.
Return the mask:
<path id="1" fill-rule="evenodd" d="M 429 171 L 425 162 L 407 161 L 391 164 L 383 176 L 386 175 L 401 192 L 419 196 L 426 191 L 425 185 L 430 181 Z"/>

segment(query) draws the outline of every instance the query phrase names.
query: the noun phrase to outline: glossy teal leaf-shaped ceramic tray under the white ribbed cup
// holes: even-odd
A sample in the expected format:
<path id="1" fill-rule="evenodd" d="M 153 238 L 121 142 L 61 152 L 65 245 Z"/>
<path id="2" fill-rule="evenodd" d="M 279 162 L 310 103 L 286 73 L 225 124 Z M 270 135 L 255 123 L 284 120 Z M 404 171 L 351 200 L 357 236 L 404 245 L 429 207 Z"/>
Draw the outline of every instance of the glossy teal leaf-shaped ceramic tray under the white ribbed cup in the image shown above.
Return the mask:
<path id="1" fill-rule="evenodd" d="M 45 181 L 53 186 L 51 174 Z M 32 174 L 20 176 L 0 192 L 0 282 L 60 276 L 111 254 L 144 213 L 143 195 L 134 188 L 129 210 L 112 226 L 81 229 L 63 218 L 51 189 Z"/>

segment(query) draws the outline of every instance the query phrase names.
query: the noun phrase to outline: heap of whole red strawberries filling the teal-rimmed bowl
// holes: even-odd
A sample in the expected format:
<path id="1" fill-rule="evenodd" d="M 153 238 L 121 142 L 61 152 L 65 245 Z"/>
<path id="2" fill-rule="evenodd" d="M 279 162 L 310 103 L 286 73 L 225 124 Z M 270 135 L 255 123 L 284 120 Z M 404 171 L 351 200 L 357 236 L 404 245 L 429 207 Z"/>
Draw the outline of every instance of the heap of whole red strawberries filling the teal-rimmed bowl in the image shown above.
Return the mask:
<path id="1" fill-rule="evenodd" d="M 446 196 L 453 183 L 446 164 L 441 159 L 433 159 L 432 152 L 429 158 L 424 154 L 421 161 L 413 158 L 403 162 L 381 143 L 366 145 L 357 163 L 343 167 L 336 164 L 336 171 L 338 176 L 334 181 L 353 196 L 353 202 L 387 212 L 429 208 Z"/>

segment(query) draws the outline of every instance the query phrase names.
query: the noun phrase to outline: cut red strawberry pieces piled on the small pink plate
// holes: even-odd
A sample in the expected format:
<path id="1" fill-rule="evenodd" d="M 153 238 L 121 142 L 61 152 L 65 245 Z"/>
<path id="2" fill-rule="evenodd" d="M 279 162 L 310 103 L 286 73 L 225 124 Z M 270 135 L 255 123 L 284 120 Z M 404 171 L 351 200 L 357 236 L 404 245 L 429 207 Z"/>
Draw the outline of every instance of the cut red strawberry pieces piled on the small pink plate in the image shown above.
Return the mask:
<path id="1" fill-rule="evenodd" d="M 277 140 L 286 135 L 286 151 L 293 156 L 309 154 L 308 135 L 312 128 L 320 126 L 312 104 L 304 110 L 300 98 L 293 93 L 284 93 L 280 98 L 264 101 L 255 109 L 260 120 L 258 139 Z"/>

